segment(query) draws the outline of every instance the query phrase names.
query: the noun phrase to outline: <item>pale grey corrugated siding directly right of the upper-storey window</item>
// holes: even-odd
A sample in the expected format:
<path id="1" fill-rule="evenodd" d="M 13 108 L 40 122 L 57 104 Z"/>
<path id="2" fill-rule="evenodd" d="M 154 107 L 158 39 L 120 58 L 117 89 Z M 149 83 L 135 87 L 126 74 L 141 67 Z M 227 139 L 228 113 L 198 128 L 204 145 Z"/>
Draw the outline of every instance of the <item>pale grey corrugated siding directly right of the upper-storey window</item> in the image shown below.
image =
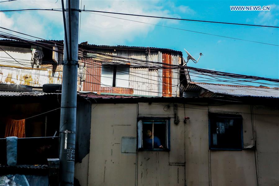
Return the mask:
<path id="1" fill-rule="evenodd" d="M 158 70 L 130 68 L 129 88 L 136 95 L 158 96 Z"/>

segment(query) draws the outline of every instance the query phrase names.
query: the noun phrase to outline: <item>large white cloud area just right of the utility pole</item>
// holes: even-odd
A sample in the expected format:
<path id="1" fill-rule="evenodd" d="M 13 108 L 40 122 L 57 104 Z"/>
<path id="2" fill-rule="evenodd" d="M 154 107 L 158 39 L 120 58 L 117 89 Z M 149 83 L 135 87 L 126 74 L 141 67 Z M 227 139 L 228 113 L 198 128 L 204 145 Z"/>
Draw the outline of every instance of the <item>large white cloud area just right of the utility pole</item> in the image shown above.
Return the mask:
<path id="1" fill-rule="evenodd" d="M 138 15 L 164 16 L 164 17 L 179 17 L 171 13 L 169 10 L 158 6 L 157 2 L 153 1 L 93 1 L 85 4 L 85 9 L 101 10 L 108 12 L 121 12 Z M 168 9 L 170 9 L 168 7 Z M 94 12 L 93 12 L 94 13 Z M 161 20 L 158 18 L 124 16 L 116 14 L 97 13 L 82 13 L 81 24 L 81 39 L 80 41 L 88 41 L 96 44 L 124 44 L 125 41 L 133 41 L 135 37 L 144 38 L 147 34 L 154 30 L 155 25 L 148 25 L 140 22 L 150 24 L 176 24 L 177 20 Z M 112 17 L 122 18 L 112 18 Z M 129 20 L 139 22 L 133 22 Z"/>

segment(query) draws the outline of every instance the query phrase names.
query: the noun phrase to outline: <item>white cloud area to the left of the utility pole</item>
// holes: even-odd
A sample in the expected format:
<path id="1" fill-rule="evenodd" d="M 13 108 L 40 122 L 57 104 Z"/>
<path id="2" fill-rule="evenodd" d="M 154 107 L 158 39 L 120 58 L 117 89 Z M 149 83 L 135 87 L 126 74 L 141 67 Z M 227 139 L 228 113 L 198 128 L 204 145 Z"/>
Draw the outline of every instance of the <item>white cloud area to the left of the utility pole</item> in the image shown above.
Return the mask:
<path id="1" fill-rule="evenodd" d="M 2 10 L 32 9 L 32 8 L 61 8 L 56 1 L 17 1 L 1 4 Z M 58 3 L 58 2 L 57 2 Z M 7 23 L 8 20 L 8 23 Z M 1 26 L 21 33 L 33 35 L 43 39 L 63 39 L 63 34 L 55 29 L 63 25 L 61 12 L 56 11 L 24 11 L 1 13 Z M 61 27 L 61 26 L 59 26 Z M 61 27 L 63 30 L 63 27 Z M 36 38 L 21 35 L 1 29 L 20 37 L 36 40 Z M 58 34 L 57 32 L 58 31 Z"/>

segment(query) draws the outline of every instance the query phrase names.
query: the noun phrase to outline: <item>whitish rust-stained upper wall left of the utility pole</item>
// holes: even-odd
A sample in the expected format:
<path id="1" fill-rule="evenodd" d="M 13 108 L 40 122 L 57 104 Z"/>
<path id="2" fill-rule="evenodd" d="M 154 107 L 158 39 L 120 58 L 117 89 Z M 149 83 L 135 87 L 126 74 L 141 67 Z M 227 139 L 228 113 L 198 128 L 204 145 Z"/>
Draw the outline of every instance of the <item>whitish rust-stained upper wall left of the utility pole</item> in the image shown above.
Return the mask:
<path id="1" fill-rule="evenodd" d="M 0 51 L 0 83 L 42 86 L 43 84 L 61 84 L 62 71 L 60 66 L 41 65 L 31 68 L 31 49 L 1 46 L 9 55 L 20 61 L 11 59 Z"/>

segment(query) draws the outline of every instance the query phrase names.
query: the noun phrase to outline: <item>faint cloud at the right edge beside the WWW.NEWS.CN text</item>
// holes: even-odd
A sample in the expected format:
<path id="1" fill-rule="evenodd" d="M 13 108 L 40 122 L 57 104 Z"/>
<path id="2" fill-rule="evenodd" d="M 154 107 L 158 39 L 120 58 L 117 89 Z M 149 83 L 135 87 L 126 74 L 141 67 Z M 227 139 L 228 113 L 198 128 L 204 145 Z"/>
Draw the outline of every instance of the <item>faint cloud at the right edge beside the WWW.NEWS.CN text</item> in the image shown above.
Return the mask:
<path id="1" fill-rule="evenodd" d="M 270 11 L 261 11 L 257 18 L 255 18 L 255 24 L 278 26 L 278 10 L 279 6 L 276 4 L 269 5 Z"/>

